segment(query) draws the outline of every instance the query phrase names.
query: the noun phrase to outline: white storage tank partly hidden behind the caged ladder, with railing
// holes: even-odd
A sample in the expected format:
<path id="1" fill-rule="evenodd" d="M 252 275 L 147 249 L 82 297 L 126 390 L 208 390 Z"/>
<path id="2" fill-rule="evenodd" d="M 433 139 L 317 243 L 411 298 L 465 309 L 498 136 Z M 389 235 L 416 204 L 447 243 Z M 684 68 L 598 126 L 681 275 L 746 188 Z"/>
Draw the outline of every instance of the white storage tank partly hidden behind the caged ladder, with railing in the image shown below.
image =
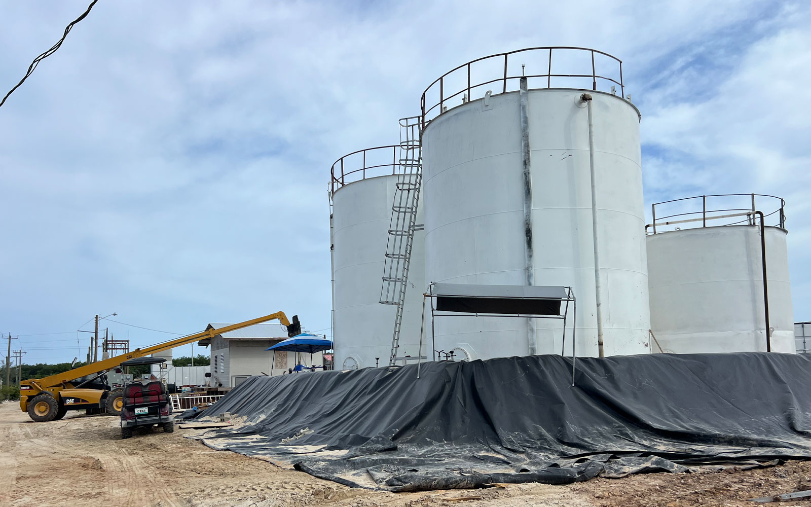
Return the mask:
<path id="1" fill-rule="evenodd" d="M 335 368 L 388 366 L 397 307 L 380 303 L 392 204 L 397 184 L 398 146 L 368 148 L 333 164 L 333 340 Z M 418 220 L 422 213 L 418 213 Z M 410 286 L 398 355 L 418 352 L 423 231 L 414 234 Z"/>

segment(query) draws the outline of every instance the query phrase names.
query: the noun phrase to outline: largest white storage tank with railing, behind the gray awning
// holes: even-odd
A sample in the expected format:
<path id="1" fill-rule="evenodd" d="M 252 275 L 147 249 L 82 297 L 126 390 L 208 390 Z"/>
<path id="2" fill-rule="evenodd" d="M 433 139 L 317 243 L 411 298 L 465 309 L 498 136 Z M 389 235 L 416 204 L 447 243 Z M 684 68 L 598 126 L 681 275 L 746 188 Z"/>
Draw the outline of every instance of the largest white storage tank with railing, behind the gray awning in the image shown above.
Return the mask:
<path id="1" fill-rule="evenodd" d="M 586 57 L 583 68 L 556 70 L 558 62 L 580 54 Z M 610 79 L 594 71 L 592 58 Z M 518 67 L 524 62 L 526 68 Z M 624 98 L 620 61 L 607 54 L 523 49 L 457 67 L 427 88 L 422 133 L 426 280 L 526 285 L 524 129 L 521 93 L 511 91 L 522 74 L 529 88 L 533 285 L 573 286 L 576 353 L 598 355 L 589 123 L 580 101 L 588 92 L 594 110 L 605 354 L 647 353 L 640 114 Z M 570 310 L 569 325 L 571 320 Z M 531 350 L 526 319 L 438 316 L 433 324 L 436 350 L 458 346 L 479 359 Z M 561 354 L 562 322 L 534 319 L 534 325 L 535 353 Z M 570 328 L 567 335 L 570 340 Z"/>

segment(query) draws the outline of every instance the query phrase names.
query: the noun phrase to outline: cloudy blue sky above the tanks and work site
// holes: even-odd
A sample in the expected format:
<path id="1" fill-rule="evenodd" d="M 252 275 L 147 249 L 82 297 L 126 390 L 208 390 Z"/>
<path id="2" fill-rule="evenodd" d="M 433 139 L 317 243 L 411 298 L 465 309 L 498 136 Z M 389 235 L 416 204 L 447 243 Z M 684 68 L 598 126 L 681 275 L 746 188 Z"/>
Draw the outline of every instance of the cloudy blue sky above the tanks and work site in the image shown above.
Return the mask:
<path id="1" fill-rule="evenodd" d="M 0 3 L 2 94 L 87 3 Z M 543 45 L 623 60 L 646 203 L 786 199 L 811 320 L 809 26 L 809 2 L 762 0 L 101 0 L 0 108 L 0 332 L 26 363 L 84 359 L 96 313 L 191 333 L 283 310 L 329 333 L 330 165 L 395 142 L 445 71 Z"/>

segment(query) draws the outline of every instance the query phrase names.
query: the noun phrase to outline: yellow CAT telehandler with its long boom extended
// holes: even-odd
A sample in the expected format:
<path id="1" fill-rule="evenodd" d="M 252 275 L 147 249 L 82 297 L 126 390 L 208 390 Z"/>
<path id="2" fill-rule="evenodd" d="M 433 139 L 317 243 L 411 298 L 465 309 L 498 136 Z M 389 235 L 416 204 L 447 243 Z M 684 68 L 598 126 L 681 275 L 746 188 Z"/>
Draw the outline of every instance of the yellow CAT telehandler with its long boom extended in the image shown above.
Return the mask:
<path id="1" fill-rule="evenodd" d="M 118 365 L 129 359 L 156 354 L 163 350 L 214 337 L 217 334 L 228 333 L 235 329 L 247 328 L 253 324 L 261 324 L 276 319 L 287 327 L 289 337 L 301 333 L 298 316 L 293 316 L 293 322 L 291 323 L 290 320 L 287 320 L 284 312 L 276 312 L 238 324 L 230 324 L 220 329 L 208 329 L 200 333 L 175 338 L 169 342 L 148 346 L 144 349 L 135 349 L 132 352 L 117 355 L 113 358 L 102 359 L 97 363 L 74 368 L 68 372 L 46 376 L 44 379 L 23 380 L 19 385 L 19 408 L 24 412 L 28 412 L 31 419 L 37 423 L 62 419 L 67 410 L 85 409 L 88 410 L 89 414 L 106 411 L 109 414 L 120 415 L 122 389 L 110 390 L 109 385 L 105 382 L 105 373 L 109 372 L 109 370 L 118 367 Z"/>

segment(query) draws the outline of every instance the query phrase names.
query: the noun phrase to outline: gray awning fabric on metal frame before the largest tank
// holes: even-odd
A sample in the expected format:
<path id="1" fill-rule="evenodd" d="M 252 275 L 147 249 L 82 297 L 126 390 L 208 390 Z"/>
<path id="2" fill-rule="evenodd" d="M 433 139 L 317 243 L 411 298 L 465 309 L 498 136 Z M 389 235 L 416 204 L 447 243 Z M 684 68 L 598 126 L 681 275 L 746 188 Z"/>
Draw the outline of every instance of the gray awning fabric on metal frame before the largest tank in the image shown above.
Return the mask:
<path id="1" fill-rule="evenodd" d="M 439 312 L 504 315 L 560 315 L 560 302 L 569 299 L 562 286 L 488 286 L 435 283 L 431 294 Z"/>

